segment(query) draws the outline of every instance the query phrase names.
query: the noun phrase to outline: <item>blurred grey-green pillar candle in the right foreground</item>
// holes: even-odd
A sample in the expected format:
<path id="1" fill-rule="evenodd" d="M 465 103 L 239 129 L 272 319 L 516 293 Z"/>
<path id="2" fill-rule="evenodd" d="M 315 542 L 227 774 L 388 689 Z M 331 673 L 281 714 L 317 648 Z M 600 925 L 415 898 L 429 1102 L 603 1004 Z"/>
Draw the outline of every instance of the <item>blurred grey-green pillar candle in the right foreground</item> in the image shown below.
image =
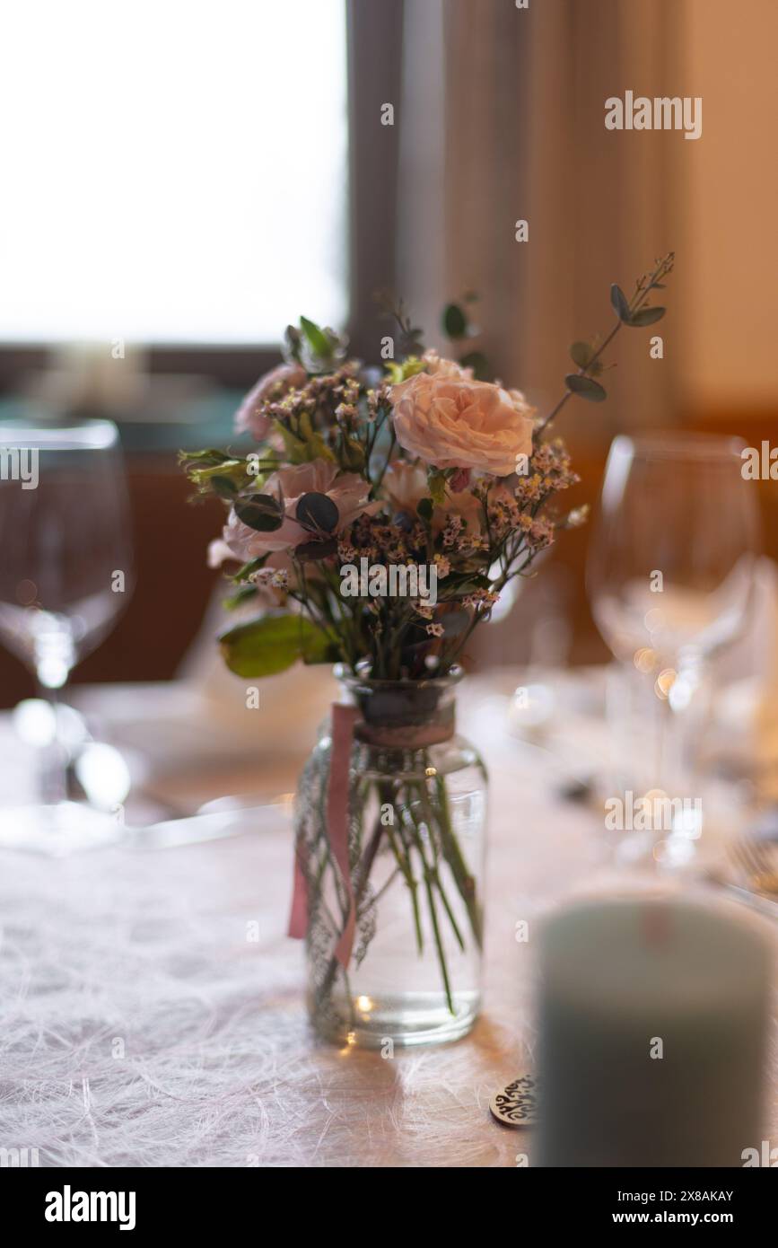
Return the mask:
<path id="1" fill-rule="evenodd" d="M 581 902 L 540 936 L 536 1166 L 742 1166 L 771 950 L 681 900 Z"/>

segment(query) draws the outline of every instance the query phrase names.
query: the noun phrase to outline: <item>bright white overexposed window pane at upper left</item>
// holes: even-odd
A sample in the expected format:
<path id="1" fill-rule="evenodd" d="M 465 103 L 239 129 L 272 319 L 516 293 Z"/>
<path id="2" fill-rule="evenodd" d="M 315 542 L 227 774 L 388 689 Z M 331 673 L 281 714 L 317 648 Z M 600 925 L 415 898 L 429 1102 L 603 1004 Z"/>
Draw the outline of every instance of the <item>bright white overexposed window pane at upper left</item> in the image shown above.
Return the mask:
<path id="1" fill-rule="evenodd" d="M 347 316 L 344 0 L 0 12 L 0 341 L 262 343 Z"/>

